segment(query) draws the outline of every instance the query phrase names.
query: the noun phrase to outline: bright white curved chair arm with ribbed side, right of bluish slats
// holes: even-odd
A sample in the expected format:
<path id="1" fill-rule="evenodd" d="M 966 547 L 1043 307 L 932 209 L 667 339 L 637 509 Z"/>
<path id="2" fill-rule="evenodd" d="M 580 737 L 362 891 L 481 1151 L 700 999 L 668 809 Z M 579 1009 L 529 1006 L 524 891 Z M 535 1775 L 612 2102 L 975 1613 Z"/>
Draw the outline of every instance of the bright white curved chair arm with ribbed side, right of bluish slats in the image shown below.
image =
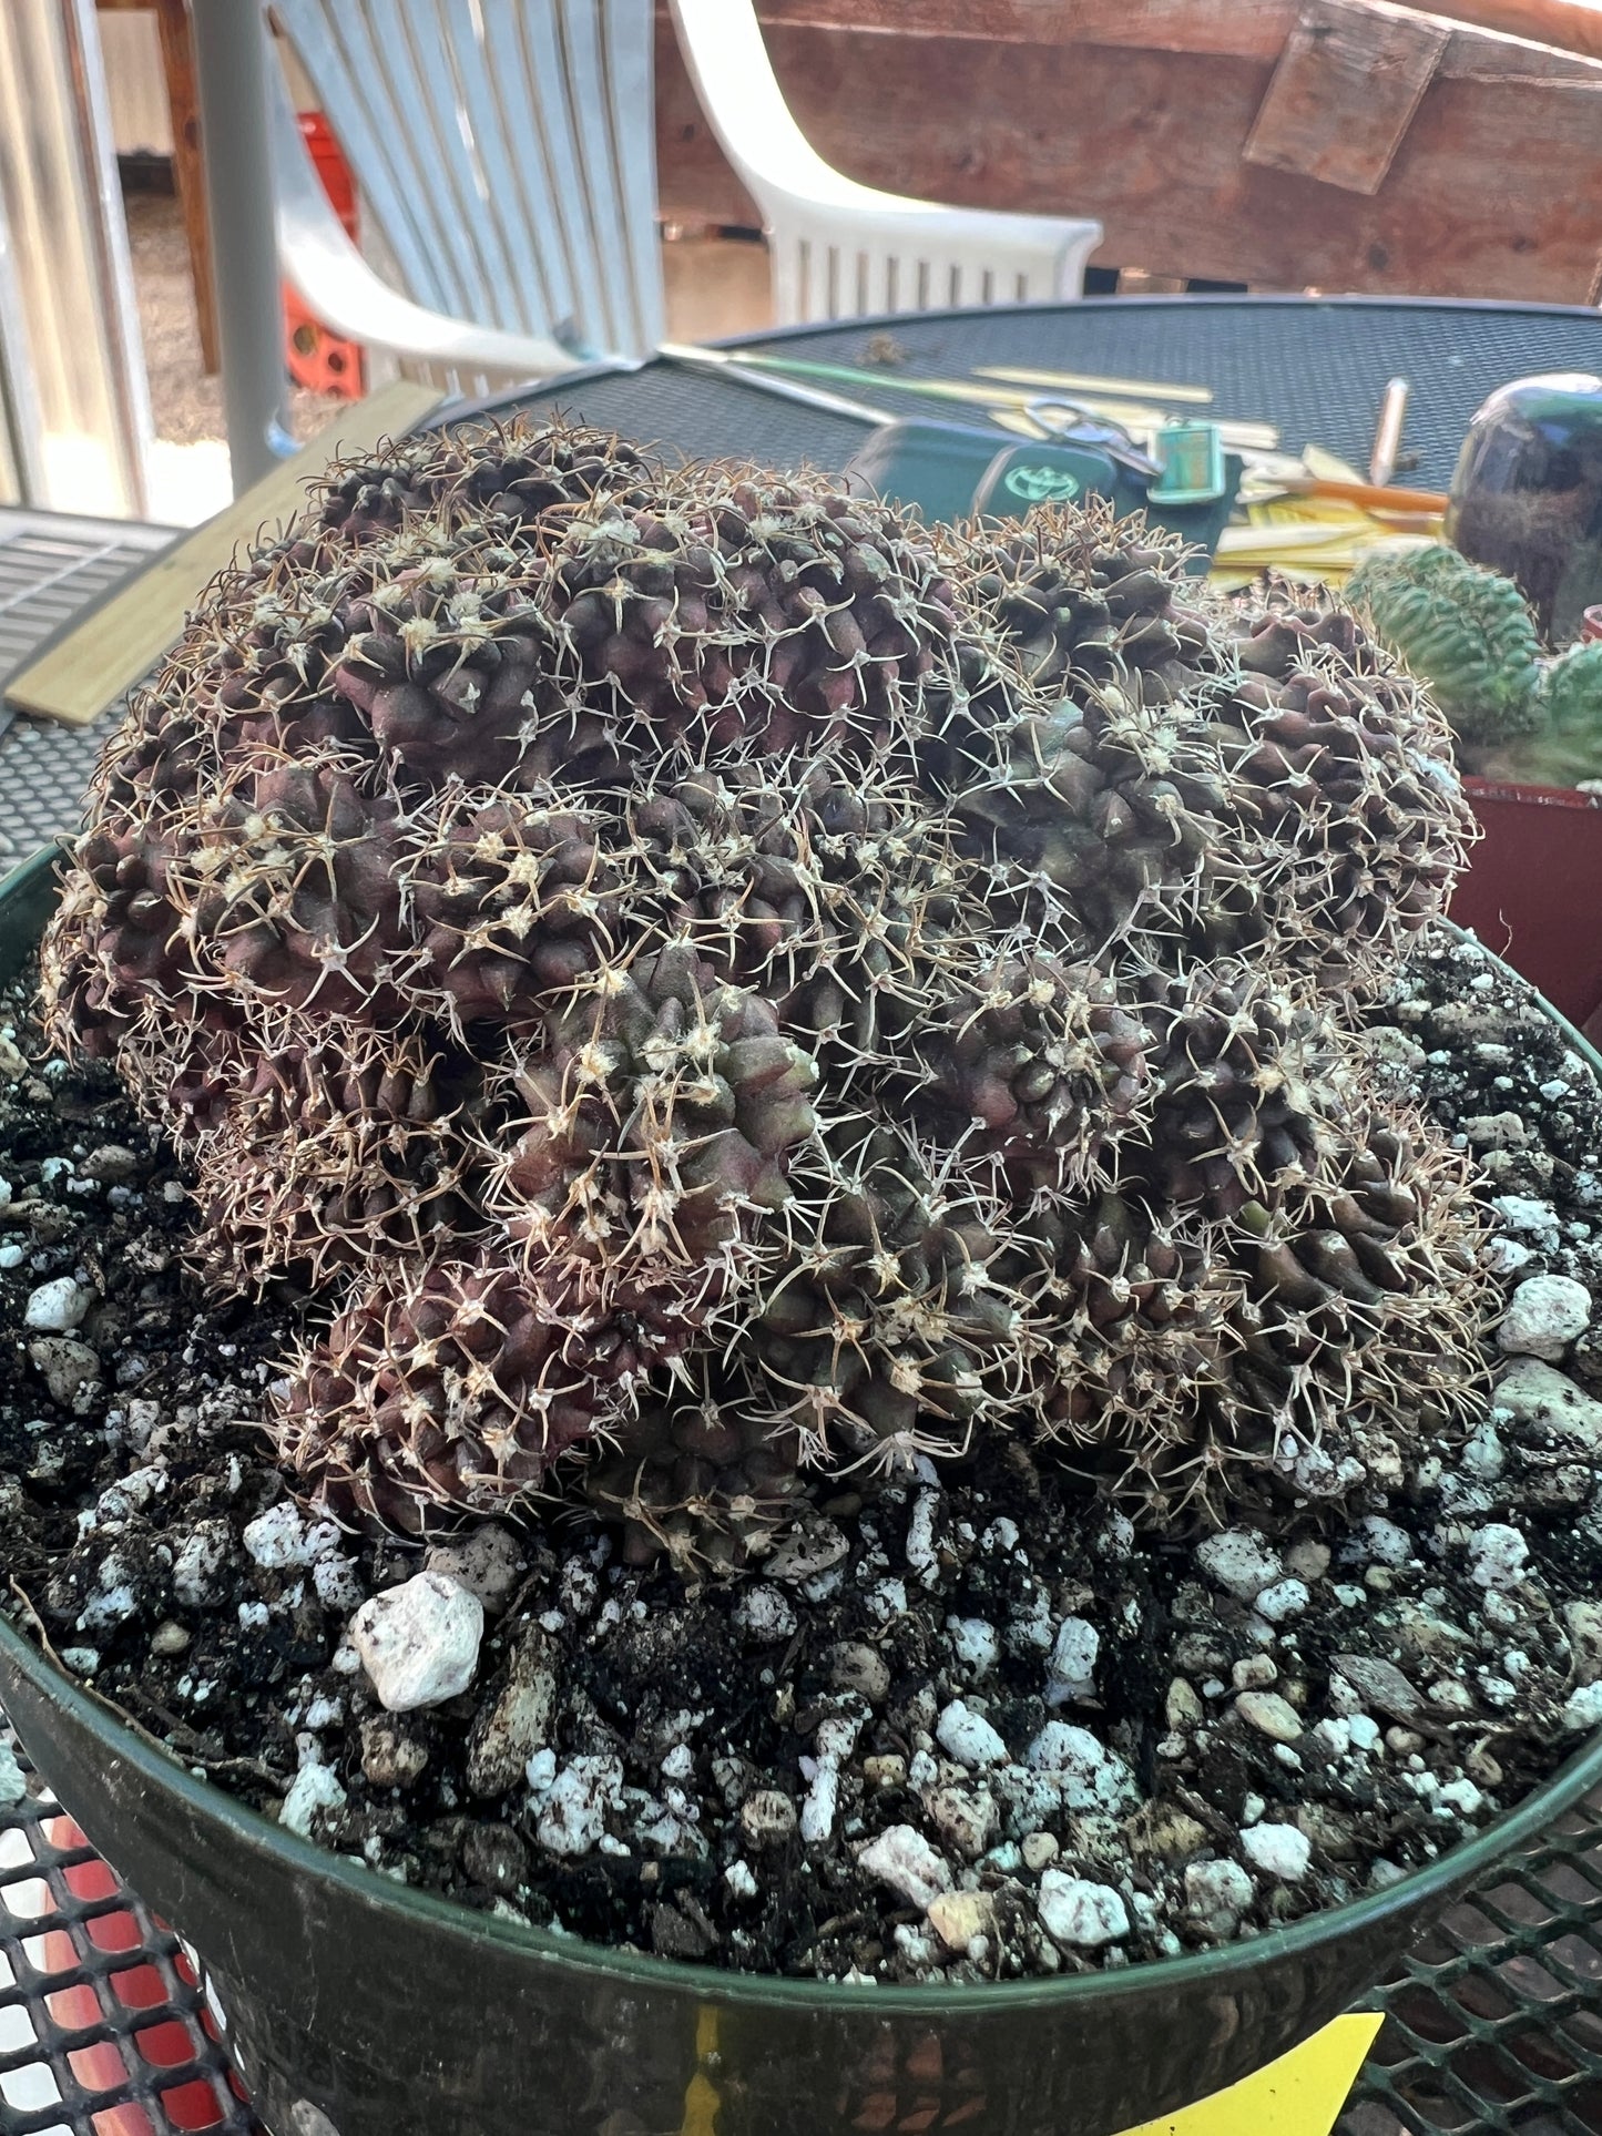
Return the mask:
<path id="1" fill-rule="evenodd" d="M 763 211 L 782 327 L 1083 295 L 1100 222 L 940 207 L 859 186 L 790 117 L 752 0 L 671 6 L 701 109 Z"/>

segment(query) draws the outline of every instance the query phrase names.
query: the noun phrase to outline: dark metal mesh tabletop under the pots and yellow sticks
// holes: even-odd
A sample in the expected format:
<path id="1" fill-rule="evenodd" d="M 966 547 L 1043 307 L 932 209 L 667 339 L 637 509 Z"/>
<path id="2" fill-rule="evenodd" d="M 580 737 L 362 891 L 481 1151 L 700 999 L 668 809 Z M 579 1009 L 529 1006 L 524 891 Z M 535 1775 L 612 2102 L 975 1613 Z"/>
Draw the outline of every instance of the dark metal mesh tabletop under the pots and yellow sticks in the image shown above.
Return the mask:
<path id="1" fill-rule="evenodd" d="M 1444 489 L 1470 417 L 1536 372 L 1602 372 L 1602 316 L 1557 305 L 1380 299 L 1106 299 L 754 335 L 745 346 L 895 378 L 1021 365 L 1213 389 L 1213 414 L 1275 423 L 1288 449 L 1363 466 L 1388 378 L 1408 378 L 1408 481 Z M 957 410 L 837 384 L 884 414 Z M 662 361 L 502 395 L 698 457 L 833 470 L 863 425 Z M 446 417 L 451 419 L 451 417 Z M 998 438 L 1002 434 L 998 431 Z M 0 677 L 169 534 L 0 513 Z M 0 865 L 73 829 L 94 728 L 0 733 Z M 224 2014 L 179 1939 L 83 1846 L 34 1779 L 4 1801 L 0 1756 L 0 2136 L 169 2136 L 258 2123 Z M 1602 2136 L 1602 1803 L 1508 1863 L 1369 1997 L 1386 2012 L 1341 2136 Z M 397 2132 L 399 2136 L 399 2132 Z M 1040 2136 L 1057 2136 L 1042 2130 Z M 1245 2136 L 1245 2132 L 1243 2132 Z"/>

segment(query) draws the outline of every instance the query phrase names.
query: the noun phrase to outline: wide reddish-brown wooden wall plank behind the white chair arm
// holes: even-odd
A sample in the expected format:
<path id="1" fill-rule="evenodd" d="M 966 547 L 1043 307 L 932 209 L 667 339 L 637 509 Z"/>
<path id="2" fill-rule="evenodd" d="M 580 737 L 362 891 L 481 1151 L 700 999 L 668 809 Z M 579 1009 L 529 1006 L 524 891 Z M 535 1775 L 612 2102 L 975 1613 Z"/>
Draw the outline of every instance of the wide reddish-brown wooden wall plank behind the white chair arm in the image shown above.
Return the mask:
<path id="1" fill-rule="evenodd" d="M 878 28 L 780 19 L 861 9 Z M 1121 43 L 904 34 L 946 0 L 760 0 L 784 94 L 818 152 L 850 177 L 974 207 L 1098 216 L 1098 258 L 1156 276 L 1254 288 L 1587 303 L 1602 261 L 1602 66 L 1452 30 L 1435 79 L 1376 194 L 1245 162 L 1294 0 L 1271 53 Z M 985 17 L 995 0 L 972 0 Z M 1017 11 L 1025 0 L 1004 0 Z M 1275 0 L 1277 4 L 1277 0 Z M 1109 0 L 1094 6 L 1109 36 Z M 1057 9 L 1062 19 L 1068 11 Z M 1151 23 L 1149 0 L 1126 11 Z M 1269 19 L 1267 0 L 1162 15 Z M 1179 26 L 1179 28 L 1175 28 Z M 1145 30 L 1143 30 L 1145 34 Z M 1252 32 L 1256 36 L 1258 32 Z M 1243 38 L 1250 41 L 1250 38 Z M 931 111 L 940 115 L 931 124 Z M 684 77 L 658 43 L 658 171 L 686 222 L 756 220 Z M 1495 173 L 1495 182 L 1487 182 Z"/>

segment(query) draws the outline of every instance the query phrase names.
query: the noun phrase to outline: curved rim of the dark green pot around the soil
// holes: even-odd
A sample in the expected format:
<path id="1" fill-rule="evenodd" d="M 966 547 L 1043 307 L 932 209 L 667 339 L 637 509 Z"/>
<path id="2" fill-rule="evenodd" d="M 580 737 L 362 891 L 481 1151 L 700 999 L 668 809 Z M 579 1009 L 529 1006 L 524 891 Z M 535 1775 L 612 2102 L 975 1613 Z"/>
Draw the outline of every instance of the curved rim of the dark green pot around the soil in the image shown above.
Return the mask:
<path id="1" fill-rule="evenodd" d="M 56 861 L 58 850 L 45 848 L 4 876 L 0 880 L 0 912 L 15 895 L 36 895 Z M 1452 921 L 1444 925 L 1459 940 L 1478 942 L 1478 938 Z M 1493 963 L 1502 963 L 1482 942 L 1478 946 Z M 1598 1081 L 1602 1081 L 1602 1053 L 1544 995 L 1536 993 L 1536 1000 L 1544 1015 L 1566 1034 L 1572 1049 L 1591 1066 Z M 265 1818 L 258 1809 L 239 1801 L 239 1796 L 201 1779 L 184 1764 L 177 1752 L 160 1749 L 152 1737 L 132 1728 L 107 1698 L 64 1675 L 4 1615 L 0 1615 L 0 1662 L 9 1662 L 28 1677 L 41 1696 L 56 1700 L 100 1749 L 132 1766 L 154 1790 L 177 1794 L 197 1818 L 224 1826 L 246 1852 L 276 1856 L 282 1867 L 297 1875 L 327 1878 L 359 1903 L 374 1907 L 378 1914 L 389 1914 L 397 1929 L 414 1925 L 419 1929 L 461 1935 L 464 1942 L 493 1942 L 508 1954 L 521 1954 L 547 1965 L 555 1963 L 572 1972 L 609 1976 L 611 1980 L 630 1982 L 641 1989 L 694 1993 L 701 2001 L 748 2008 L 786 2006 L 795 2012 L 816 2008 L 818 2014 L 824 2010 L 857 2010 L 861 2014 L 878 2010 L 884 2016 L 899 2019 L 978 2019 L 985 2010 L 1040 2008 L 1045 2014 L 1064 2004 L 1145 1995 L 1153 1989 L 1173 1995 L 1183 1995 L 1188 1989 L 1215 1991 L 1226 1986 L 1237 1974 L 1260 1974 L 1265 1965 L 1294 1959 L 1320 1944 L 1339 1942 L 1348 1933 L 1380 1927 L 1391 1916 L 1412 1914 L 1433 1899 L 1450 1901 L 1457 1890 L 1476 1882 L 1485 1869 L 1491 1869 L 1506 1854 L 1540 1837 L 1564 1809 L 1570 1809 L 1581 1796 L 1602 1786 L 1602 1730 L 1598 1730 L 1549 1779 L 1512 1809 L 1502 1811 L 1474 1839 L 1446 1848 L 1435 1860 L 1423 1869 L 1410 1869 L 1395 1884 L 1386 1884 L 1384 1890 L 1322 1907 L 1284 1929 L 1250 1935 L 1235 1944 L 1220 1944 L 1213 1950 L 1188 1952 L 1179 1959 L 1141 1961 L 1115 1972 L 1070 1974 L 1068 1978 L 1049 1976 L 1045 1980 L 993 1980 L 983 1986 L 959 1989 L 936 1984 L 880 1986 L 876 1982 L 788 1978 L 782 1974 L 731 1974 L 690 1965 L 681 1959 L 615 1950 L 579 1935 L 553 1935 L 534 1922 L 474 1914 L 455 1899 L 421 1890 L 412 1884 L 395 1884 L 391 1878 L 367 1869 L 350 1856 L 333 1854 L 329 1848 L 318 1848 L 297 1833 L 286 1833 L 282 1824 Z"/>

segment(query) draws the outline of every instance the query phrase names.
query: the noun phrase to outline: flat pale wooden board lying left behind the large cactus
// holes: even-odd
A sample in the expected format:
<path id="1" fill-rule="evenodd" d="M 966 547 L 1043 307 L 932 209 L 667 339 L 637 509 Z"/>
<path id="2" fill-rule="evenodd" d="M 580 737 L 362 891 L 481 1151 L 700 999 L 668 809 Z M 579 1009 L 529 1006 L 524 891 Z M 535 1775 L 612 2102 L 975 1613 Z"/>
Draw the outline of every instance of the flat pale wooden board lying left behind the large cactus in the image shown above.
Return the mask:
<path id="1" fill-rule="evenodd" d="M 365 451 L 380 438 L 406 436 L 442 399 L 440 387 L 397 378 L 367 399 L 352 402 L 216 519 L 179 536 L 92 609 L 79 609 L 66 630 L 11 677 L 6 705 L 66 726 L 98 720 L 182 637 L 188 611 L 233 560 L 239 543 L 254 540 L 263 528 L 299 511 L 310 476 L 342 449 Z"/>

